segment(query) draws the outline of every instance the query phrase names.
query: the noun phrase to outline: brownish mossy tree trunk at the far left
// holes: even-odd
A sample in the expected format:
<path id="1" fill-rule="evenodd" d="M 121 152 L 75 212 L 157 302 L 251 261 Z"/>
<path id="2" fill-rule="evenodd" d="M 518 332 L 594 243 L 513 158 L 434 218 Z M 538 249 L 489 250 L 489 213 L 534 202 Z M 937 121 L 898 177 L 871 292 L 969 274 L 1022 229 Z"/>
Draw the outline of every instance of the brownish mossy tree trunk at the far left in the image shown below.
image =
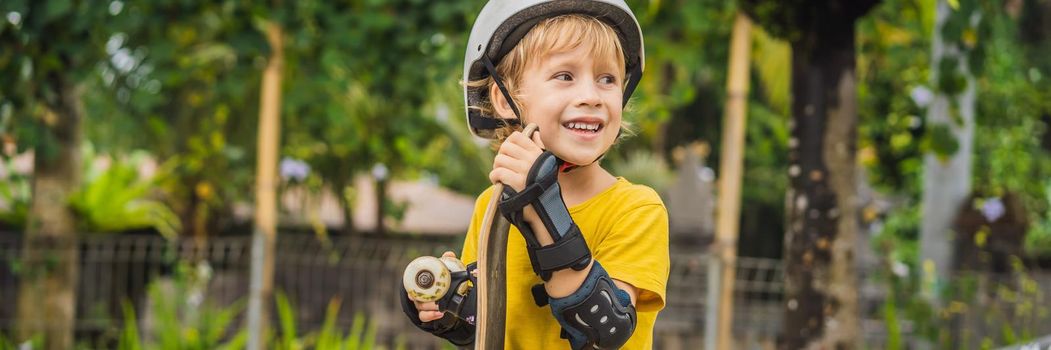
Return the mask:
<path id="1" fill-rule="evenodd" d="M 19 271 L 16 338 L 43 335 L 45 349 L 71 349 L 78 244 L 69 194 L 80 184 L 80 88 L 55 79 L 58 101 L 45 107 L 47 133 L 34 159 L 33 204 Z"/>

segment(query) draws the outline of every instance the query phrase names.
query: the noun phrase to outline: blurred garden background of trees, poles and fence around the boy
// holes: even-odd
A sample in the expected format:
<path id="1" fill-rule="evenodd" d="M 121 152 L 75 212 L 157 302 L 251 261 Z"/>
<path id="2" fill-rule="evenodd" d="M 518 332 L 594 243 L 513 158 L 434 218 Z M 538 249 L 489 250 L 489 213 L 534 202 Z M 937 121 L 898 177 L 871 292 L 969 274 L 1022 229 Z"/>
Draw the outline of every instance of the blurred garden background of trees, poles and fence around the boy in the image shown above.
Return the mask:
<path id="1" fill-rule="evenodd" d="M 627 2 L 655 348 L 1051 334 L 1051 1 Z M 0 1 L 0 349 L 448 348 L 396 287 L 489 186 L 482 5 Z"/>

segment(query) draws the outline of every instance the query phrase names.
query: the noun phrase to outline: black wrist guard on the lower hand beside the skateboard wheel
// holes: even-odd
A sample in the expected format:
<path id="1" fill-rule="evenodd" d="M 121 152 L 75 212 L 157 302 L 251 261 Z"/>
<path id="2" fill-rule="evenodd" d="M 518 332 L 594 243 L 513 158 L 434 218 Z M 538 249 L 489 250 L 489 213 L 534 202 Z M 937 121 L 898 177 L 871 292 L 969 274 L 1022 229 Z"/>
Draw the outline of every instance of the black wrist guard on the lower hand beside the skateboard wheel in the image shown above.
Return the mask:
<path id="1" fill-rule="evenodd" d="M 438 310 L 445 311 L 441 318 L 432 322 L 420 321 L 419 310 L 409 300 L 409 293 L 406 292 L 405 286 L 398 284 L 401 290 L 401 311 L 405 311 L 409 321 L 416 328 L 446 338 L 454 345 L 467 346 L 474 343 L 474 321 L 478 303 L 474 291 L 474 285 L 477 281 L 471 272 L 476 267 L 477 264 L 471 263 L 467 266 L 467 271 L 452 272 L 451 285 L 454 287 L 450 288 L 446 295 L 436 302 Z M 465 286 L 465 284 L 467 285 Z M 462 294 L 459 292 L 460 286 L 463 286 L 465 292 Z"/>

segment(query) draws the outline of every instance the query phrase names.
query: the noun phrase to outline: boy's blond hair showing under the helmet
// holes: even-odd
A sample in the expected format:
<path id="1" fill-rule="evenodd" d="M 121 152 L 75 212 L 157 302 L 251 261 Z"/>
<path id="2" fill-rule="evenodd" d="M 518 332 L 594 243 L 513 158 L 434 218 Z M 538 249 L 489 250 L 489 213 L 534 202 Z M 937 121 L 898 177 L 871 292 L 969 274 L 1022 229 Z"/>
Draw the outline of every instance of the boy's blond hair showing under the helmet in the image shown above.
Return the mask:
<path id="1" fill-rule="evenodd" d="M 588 54 L 596 57 L 598 62 L 613 64 L 609 68 L 621 73 L 618 81 L 623 81 L 624 49 L 613 27 L 595 17 L 577 14 L 544 19 L 530 29 L 496 65 L 497 74 L 503 79 L 503 85 L 507 86 L 508 92 L 522 115 L 529 108 L 521 103 L 522 94 L 519 86 L 526 68 L 530 64 L 535 64 L 535 60 L 543 60 L 552 54 L 571 52 L 579 47 L 588 48 Z M 483 89 L 482 96 L 488 96 L 494 84 L 496 82 L 492 77 L 467 82 L 468 88 Z M 469 108 L 478 109 L 482 116 L 495 117 L 496 110 L 492 101 L 492 97 L 489 97 Z M 631 133 L 627 122 L 621 121 L 620 125 L 624 133 Z M 504 126 L 494 130 L 496 135 L 494 146 L 499 146 L 511 132 L 520 128 Z"/>

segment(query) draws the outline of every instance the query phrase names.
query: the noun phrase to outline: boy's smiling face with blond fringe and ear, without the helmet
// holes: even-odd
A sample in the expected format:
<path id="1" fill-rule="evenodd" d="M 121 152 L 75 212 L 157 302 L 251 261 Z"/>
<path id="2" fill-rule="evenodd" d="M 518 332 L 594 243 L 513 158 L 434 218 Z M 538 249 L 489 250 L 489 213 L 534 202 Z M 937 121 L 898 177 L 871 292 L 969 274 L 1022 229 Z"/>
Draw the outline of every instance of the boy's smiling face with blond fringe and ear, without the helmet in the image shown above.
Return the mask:
<path id="1" fill-rule="evenodd" d="M 624 61 L 616 33 L 593 18 L 563 16 L 537 24 L 519 46 L 506 61 L 520 67 L 509 85 L 523 125 L 536 123 L 555 156 L 591 164 L 613 146 L 622 123 Z M 495 84 L 489 96 L 494 111 L 514 118 Z"/>

